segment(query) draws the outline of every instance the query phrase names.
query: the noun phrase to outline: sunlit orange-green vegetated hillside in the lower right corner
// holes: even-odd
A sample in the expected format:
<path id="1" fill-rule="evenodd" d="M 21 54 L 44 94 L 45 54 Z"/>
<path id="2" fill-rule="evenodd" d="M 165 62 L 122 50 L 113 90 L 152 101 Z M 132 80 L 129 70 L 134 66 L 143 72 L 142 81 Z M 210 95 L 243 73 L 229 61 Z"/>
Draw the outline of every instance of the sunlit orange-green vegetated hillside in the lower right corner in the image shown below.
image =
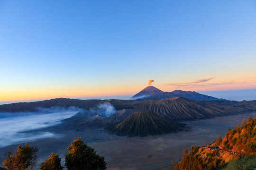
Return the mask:
<path id="1" fill-rule="evenodd" d="M 228 133 L 220 136 L 207 147 L 220 148 L 237 154 L 208 150 L 196 146 L 191 151 L 184 150 L 184 156 L 172 170 L 250 170 L 256 167 L 256 119 L 248 118 L 242 121 L 242 127 L 229 129 Z M 251 155 L 251 156 L 247 156 Z M 242 164 L 242 165 L 241 165 Z"/>

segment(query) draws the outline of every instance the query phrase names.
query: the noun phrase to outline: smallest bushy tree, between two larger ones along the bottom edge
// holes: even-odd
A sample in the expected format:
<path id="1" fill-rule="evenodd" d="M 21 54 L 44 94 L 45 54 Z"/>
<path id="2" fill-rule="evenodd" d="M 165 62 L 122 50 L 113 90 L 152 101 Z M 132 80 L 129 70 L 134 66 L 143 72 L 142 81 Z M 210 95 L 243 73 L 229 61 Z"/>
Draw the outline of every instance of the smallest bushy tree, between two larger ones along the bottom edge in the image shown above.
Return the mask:
<path id="1" fill-rule="evenodd" d="M 59 155 L 52 153 L 48 159 L 41 163 L 39 170 L 63 170 L 63 168 Z"/>

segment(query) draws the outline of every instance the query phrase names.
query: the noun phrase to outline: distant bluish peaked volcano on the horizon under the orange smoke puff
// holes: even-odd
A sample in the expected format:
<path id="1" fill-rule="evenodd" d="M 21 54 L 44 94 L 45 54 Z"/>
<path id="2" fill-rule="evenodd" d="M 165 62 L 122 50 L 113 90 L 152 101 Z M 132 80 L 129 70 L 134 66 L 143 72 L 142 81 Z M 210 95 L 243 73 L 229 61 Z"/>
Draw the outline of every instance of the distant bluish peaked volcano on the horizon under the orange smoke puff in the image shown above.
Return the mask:
<path id="1" fill-rule="evenodd" d="M 163 92 L 154 86 L 147 86 L 145 89 L 132 96 L 131 99 L 168 99 L 174 97 L 184 97 L 197 101 L 225 101 L 225 99 L 218 99 L 212 96 L 191 91 L 174 90 L 173 92 Z"/>

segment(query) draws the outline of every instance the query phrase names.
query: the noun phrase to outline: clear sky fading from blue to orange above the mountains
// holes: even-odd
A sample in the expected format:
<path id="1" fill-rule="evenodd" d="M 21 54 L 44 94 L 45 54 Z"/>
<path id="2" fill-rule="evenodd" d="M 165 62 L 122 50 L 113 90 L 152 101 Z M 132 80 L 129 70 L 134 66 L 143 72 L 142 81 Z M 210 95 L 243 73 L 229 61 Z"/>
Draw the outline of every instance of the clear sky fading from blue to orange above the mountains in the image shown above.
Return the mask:
<path id="1" fill-rule="evenodd" d="M 132 95 L 149 79 L 256 89 L 256 1 L 0 0 L 0 102 Z"/>

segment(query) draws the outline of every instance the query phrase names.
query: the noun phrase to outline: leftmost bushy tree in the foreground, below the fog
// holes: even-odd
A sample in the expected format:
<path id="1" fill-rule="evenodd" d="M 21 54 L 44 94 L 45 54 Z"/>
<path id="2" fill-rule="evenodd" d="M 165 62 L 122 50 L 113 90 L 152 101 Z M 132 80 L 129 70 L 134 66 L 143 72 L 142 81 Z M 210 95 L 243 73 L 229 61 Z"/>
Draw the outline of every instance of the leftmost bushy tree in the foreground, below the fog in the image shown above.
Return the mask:
<path id="1" fill-rule="evenodd" d="M 15 155 L 12 152 L 7 153 L 7 159 L 3 165 L 8 170 L 25 170 L 33 168 L 37 163 L 37 147 L 29 145 L 27 142 L 24 146 L 19 145 Z"/>

